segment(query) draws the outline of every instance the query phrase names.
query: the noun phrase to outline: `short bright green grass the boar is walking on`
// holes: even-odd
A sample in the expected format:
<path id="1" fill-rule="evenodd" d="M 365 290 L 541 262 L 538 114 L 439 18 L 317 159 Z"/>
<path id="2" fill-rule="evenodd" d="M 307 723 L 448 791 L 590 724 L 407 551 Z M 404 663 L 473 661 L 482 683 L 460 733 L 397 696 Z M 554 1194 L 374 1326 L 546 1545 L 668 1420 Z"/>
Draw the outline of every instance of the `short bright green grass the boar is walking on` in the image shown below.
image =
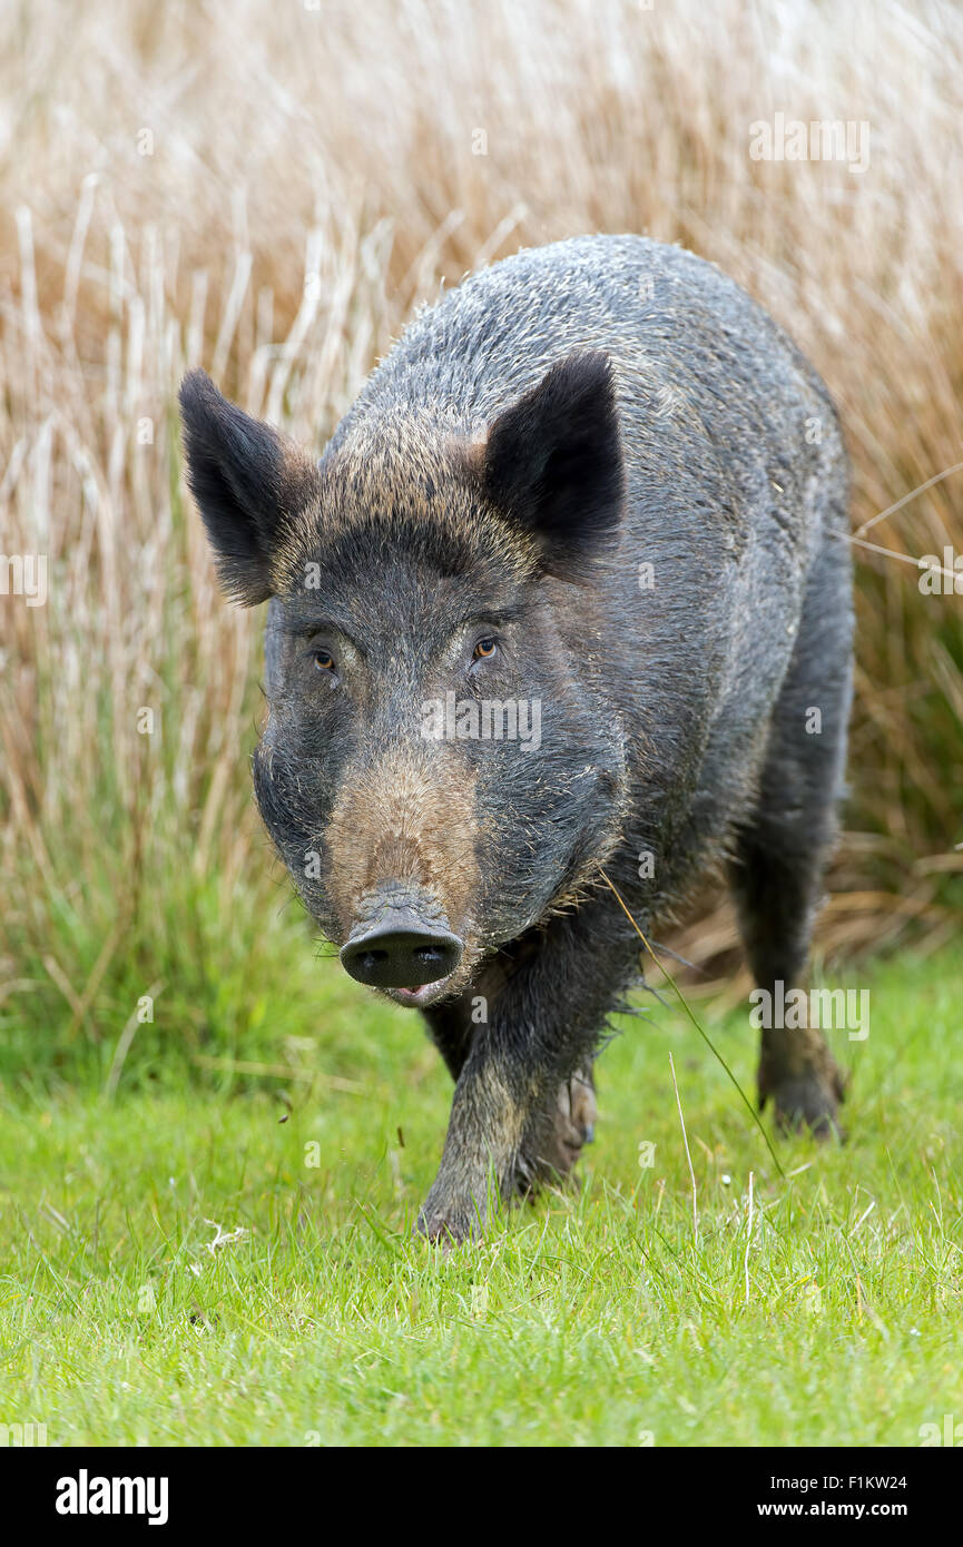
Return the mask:
<path id="1" fill-rule="evenodd" d="M 410 1235 L 449 1105 L 420 1019 L 288 934 L 248 993 L 271 1024 L 313 978 L 314 1041 L 274 1052 L 297 1077 L 181 1063 L 152 1092 L 135 1044 L 108 1100 L 87 1066 L 3 1066 L 0 1422 L 62 1445 L 917 1445 L 963 1419 L 958 950 L 859 981 L 848 1145 L 783 1143 L 780 1177 L 653 1006 L 602 1055 L 582 1191 L 446 1256 Z M 701 1019 L 751 1089 L 745 1016 Z M 211 1252 L 215 1225 L 243 1235 Z"/>

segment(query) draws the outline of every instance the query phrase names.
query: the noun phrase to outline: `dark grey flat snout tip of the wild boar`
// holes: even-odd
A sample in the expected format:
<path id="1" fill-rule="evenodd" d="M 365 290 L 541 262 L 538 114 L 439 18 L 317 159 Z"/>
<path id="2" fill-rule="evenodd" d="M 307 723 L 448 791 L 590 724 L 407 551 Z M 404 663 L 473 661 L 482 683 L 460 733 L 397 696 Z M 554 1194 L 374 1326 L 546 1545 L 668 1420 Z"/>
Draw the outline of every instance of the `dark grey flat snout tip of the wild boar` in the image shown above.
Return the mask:
<path id="1" fill-rule="evenodd" d="M 341 948 L 341 962 L 351 978 L 372 989 L 421 989 L 447 978 L 463 951 L 463 942 L 444 919 L 426 917 L 413 899 L 389 894 L 375 900 L 365 924 Z"/>

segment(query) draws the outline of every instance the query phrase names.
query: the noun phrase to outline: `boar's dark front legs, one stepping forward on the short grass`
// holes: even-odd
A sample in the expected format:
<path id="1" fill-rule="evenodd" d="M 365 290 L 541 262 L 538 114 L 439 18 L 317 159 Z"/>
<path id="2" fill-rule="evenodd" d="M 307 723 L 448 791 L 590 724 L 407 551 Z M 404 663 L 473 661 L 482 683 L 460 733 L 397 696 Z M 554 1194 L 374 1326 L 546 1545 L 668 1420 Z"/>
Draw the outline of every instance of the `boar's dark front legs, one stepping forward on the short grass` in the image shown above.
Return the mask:
<path id="1" fill-rule="evenodd" d="M 612 933 L 605 903 L 590 903 L 482 975 L 474 999 L 489 990 L 488 1018 L 469 1035 L 454 1006 L 429 1019 L 457 1075 L 441 1166 L 418 1219 L 430 1239 L 463 1241 L 489 1202 L 577 1159 L 595 1123 L 591 1057 L 635 968 Z"/>

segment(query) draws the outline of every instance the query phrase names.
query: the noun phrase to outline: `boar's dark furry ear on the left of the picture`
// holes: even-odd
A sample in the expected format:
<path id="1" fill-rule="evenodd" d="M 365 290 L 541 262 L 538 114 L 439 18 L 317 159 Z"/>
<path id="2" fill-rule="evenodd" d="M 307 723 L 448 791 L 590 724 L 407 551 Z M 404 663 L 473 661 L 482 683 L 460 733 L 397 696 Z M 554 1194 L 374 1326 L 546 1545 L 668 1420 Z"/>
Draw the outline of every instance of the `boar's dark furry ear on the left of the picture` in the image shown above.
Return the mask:
<path id="1" fill-rule="evenodd" d="M 206 371 L 181 382 L 187 483 L 217 557 L 221 589 L 245 606 L 272 594 L 271 554 L 314 480 L 305 453 L 220 394 Z"/>

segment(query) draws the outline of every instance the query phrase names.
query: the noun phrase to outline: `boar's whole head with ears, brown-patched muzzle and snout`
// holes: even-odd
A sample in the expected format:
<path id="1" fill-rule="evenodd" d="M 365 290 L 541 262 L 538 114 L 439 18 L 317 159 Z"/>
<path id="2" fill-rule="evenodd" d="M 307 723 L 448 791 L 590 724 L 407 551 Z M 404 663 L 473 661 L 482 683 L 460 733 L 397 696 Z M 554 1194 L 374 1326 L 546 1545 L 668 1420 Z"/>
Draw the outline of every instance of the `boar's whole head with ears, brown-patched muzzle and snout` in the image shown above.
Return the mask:
<path id="1" fill-rule="evenodd" d="M 418 1007 L 460 993 L 619 834 L 608 360 L 564 359 L 482 429 L 362 399 L 320 464 L 203 371 L 181 410 L 221 585 L 269 600 L 271 838 L 351 976 Z"/>

